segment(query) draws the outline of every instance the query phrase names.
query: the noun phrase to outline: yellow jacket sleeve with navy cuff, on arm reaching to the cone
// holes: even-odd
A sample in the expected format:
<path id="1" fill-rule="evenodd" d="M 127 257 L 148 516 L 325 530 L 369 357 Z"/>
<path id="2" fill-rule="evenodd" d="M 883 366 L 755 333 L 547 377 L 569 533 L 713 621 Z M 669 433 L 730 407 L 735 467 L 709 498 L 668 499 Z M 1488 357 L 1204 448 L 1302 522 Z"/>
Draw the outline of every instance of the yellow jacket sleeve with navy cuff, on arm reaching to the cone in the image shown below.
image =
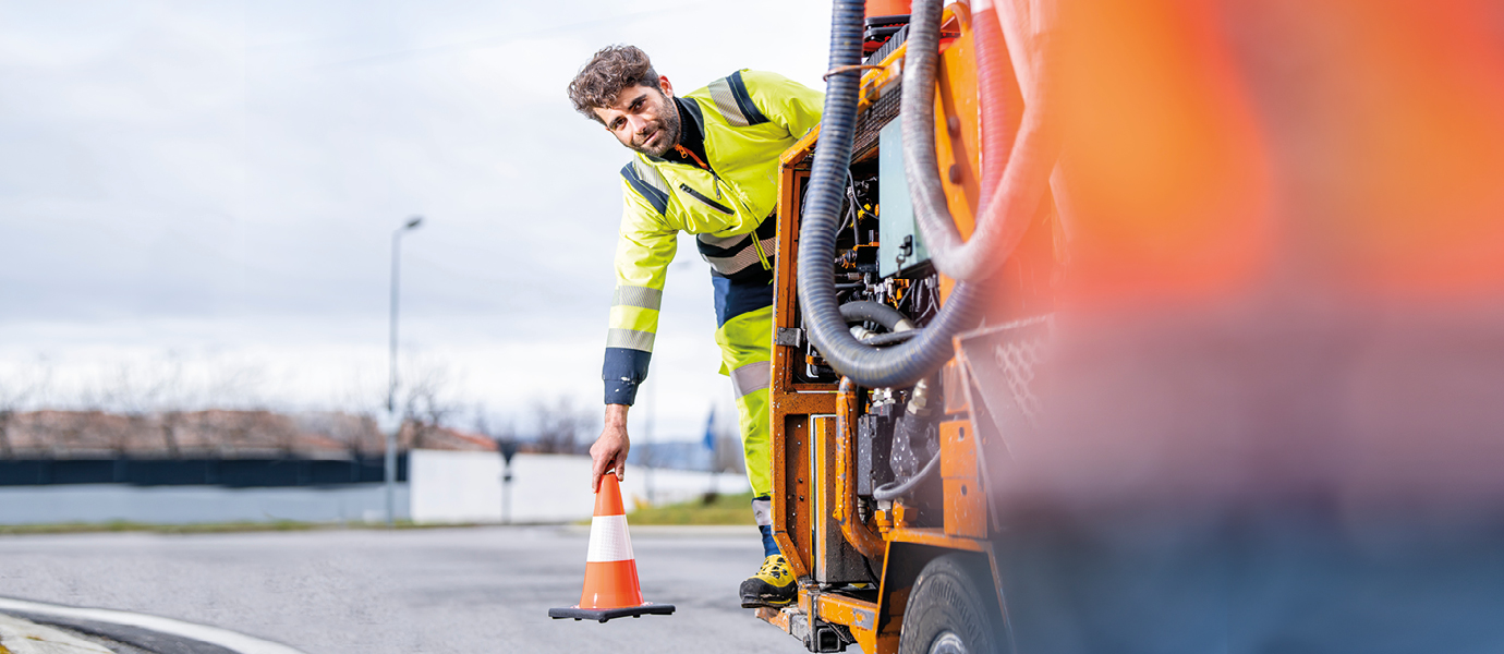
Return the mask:
<path id="1" fill-rule="evenodd" d="M 606 404 L 632 404 L 648 376 L 657 334 L 663 278 L 678 248 L 678 232 L 630 185 L 623 182 L 624 210 L 617 239 L 617 292 L 606 331 Z"/>

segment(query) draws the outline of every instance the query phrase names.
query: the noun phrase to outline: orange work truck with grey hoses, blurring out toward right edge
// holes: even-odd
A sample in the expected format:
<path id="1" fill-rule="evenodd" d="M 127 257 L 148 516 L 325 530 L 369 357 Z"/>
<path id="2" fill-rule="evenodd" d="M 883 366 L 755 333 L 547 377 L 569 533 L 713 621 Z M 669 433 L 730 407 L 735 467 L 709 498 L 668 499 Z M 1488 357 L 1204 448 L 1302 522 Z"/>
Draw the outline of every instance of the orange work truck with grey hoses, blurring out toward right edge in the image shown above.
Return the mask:
<path id="1" fill-rule="evenodd" d="M 1262 637 L 1229 636 L 1260 604 L 1196 586 L 1233 555 L 1256 571 L 1244 600 L 1325 610 L 1311 643 L 1399 642 L 1406 622 L 1363 618 L 1373 606 L 1475 610 L 1351 592 L 1442 579 L 1387 567 L 1391 547 L 1427 561 L 1433 523 L 1408 532 L 1435 543 L 1366 550 L 1352 516 L 1310 507 L 1504 505 L 1484 492 L 1498 468 L 1463 474 L 1504 459 L 1498 413 L 1459 400 L 1504 382 L 1496 18 L 1469 2 L 835 0 L 824 119 L 779 177 L 772 499 L 799 600 L 758 616 L 809 651 L 1218 651 Z M 1459 380 L 1429 413 L 1445 419 L 1412 419 L 1432 397 L 1414 379 Z M 1030 441 L 1041 413 L 1068 419 Z M 1035 538 L 1035 564 L 1057 565 L 1009 561 L 1030 534 L 1018 498 L 1087 516 Z M 1090 516 L 1119 532 L 1080 537 Z M 1166 537 L 1224 523 L 1242 531 Z M 1325 555 L 1256 544 L 1296 541 L 1390 559 L 1277 585 Z M 1056 604 L 1005 592 L 1008 570 L 1054 583 Z M 1164 574 L 1102 582 L 1143 570 Z M 1066 615 L 1108 597 L 1096 622 Z M 1020 615 L 1056 609 L 1036 621 L 1057 622 L 1054 645 L 1026 648 Z"/>

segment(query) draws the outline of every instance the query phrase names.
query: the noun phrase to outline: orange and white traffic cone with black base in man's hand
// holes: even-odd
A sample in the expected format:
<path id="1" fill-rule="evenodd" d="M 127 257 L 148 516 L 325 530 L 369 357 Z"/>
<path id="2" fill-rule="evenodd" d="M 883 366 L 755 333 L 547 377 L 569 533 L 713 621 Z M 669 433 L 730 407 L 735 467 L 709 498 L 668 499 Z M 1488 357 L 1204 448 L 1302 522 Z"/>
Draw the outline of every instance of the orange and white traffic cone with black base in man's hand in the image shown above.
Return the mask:
<path id="1" fill-rule="evenodd" d="M 549 618 L 599 619 L 641 618 L 645 613 L 669 615 L 674 604 L 642 601 L 638 586 L 638 561 L 632 556 L 627 513 L 621 510 L 621 487 L 608 472 L 596 492 L 596 517 L 590 520 L 590 553 L 585 555 L 585 591 L 579 604 L 549 609 Z"/>

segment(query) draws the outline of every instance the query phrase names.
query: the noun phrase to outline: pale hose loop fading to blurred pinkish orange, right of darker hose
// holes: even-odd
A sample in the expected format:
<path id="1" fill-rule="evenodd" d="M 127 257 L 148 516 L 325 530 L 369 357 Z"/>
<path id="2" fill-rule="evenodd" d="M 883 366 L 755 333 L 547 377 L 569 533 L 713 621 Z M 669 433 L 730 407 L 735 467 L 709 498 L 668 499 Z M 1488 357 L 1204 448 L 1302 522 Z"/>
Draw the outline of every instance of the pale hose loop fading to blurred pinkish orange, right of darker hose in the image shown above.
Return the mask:
<path id="1" fill-rule="evenodd" d="M 940 62 L 940 17 L 945 0 L 914 0 L 904 45 L 904 173 L 913 197 L 919 232 L 935 269 L 961 281 L 982 281 L 996 274 L 1029 230 L 1050 185 L 1059 143 L 1045 123 L 1045 80 L 1032 75 L 1017 141 L 1006 119 L 1006 84 L 1012 71 L 997 9 L 990 0 L 975 3 L 978 96 L 982 107 L 982 191 L 976 229 L 961 239 L 946 207 L 934 143 L 934 89 Z M 1012 147 L 1011 147 L 1012 146 Z M 1009 152 L 1012 149 L 1012 152 Z"/>

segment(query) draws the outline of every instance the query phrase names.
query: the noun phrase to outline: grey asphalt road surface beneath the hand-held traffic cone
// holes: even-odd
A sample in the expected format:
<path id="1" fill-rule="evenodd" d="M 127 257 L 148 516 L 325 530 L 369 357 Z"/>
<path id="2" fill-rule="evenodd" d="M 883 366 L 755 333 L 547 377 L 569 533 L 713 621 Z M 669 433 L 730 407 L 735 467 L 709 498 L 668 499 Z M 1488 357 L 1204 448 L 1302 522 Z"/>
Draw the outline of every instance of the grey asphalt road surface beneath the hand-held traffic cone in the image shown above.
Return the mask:
<path id="1" fill-rule="evenodd" d="M 633 529 L 642 592 L 672 616 L 553 621 L 588 535 L 553 526 L 0 538 L 0 595 L 134 610 L 341 652 L 802 652 L 737 604 L 755 529 Z M 854 651 L 854 649 L 853 649 Z"/>

